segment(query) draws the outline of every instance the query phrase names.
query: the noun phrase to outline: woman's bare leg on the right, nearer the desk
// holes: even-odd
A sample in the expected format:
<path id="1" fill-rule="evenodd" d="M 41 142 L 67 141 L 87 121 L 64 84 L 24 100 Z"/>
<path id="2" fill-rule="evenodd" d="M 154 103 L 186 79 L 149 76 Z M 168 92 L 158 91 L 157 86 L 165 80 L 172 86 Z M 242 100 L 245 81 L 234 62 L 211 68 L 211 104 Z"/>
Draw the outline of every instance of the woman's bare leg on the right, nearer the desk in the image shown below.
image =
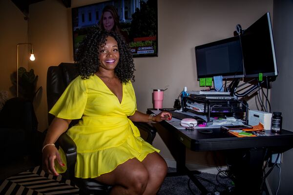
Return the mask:
<path id="1" fill-rule="evenodd" d="M 162 156 L 154 152 L 142 161 L 148 172 L 146 190 L 143 195 L 155 195 L 167 175 L 167 164 Z"/>

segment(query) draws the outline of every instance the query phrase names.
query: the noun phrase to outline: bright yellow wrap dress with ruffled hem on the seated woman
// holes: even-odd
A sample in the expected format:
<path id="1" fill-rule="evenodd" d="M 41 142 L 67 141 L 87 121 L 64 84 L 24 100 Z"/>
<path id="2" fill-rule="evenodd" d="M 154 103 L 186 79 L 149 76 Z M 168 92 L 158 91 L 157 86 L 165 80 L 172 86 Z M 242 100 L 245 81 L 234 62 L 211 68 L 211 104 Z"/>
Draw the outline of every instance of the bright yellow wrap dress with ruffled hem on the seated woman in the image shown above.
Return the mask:
<path id="1" fill-rule="evenodd" d="M 96 75 L 75 78 L 49 113 L 64 119 L 79 119 L 67 134 L 77 146 L 75 176 L 94 178 L 113 171 L 128 159 L 142 161 L 147 154 L 159 152 L 140 137 L 139 130 L 127 116 L 136 111 L 136 98 L 130 81 L 122 84 L 121 103 Z M 65 167 L 55 163 L 59 173 Z"/>

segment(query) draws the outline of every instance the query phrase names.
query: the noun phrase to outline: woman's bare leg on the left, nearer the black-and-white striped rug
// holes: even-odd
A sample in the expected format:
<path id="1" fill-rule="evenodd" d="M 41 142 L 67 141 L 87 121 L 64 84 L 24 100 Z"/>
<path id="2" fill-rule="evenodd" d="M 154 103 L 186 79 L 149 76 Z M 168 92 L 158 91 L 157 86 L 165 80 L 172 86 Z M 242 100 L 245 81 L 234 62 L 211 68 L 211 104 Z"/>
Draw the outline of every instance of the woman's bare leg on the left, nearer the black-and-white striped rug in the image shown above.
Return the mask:
<path id="1" fill-rule="evenodd" d="M 148 172 L 143 163 L 132 158 L 118 165 L 114 171 L 95 179 L 113 185 L 110 195 L 142 195 L 146 190 Z"/>

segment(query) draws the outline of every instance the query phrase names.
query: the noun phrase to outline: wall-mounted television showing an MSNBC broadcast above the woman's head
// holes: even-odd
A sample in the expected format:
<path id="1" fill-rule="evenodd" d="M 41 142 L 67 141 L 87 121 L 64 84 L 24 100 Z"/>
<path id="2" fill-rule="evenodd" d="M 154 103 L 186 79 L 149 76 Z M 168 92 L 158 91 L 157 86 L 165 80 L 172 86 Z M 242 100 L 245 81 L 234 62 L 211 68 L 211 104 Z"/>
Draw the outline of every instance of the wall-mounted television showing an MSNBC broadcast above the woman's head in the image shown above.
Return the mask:
<path id="1" fill-rule="evenodd" d="M 105 7 L 114 7 L 119 21 L 119 32 L 129 43 L 134 58 L 158 56 L 157 0 L 108 0 L 72 8 L 74 59 L 78 44 L 83 41 L 88 27 L 104 25 Z M 113 12 L 108 12 L 110 14 Z M 115 13 L 112 16 L 115 19 Z M 102 18 L 102 16 L 104 16 Z M 114 20 L 115 21 L 115 20 Z M 102 28 L 103 28 L 102 27 Z"/>

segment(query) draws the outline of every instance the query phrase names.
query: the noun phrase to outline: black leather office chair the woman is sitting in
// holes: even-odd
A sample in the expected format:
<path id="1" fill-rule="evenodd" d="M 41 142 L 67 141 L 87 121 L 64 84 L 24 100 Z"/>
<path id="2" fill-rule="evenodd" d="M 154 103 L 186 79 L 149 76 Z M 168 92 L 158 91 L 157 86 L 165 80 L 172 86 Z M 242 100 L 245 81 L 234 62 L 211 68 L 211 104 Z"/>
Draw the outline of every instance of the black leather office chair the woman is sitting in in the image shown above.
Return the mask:
<path id="1" fill-rule="evenodd" d="M 78 67 L 75 63 L 61 63 L 59 66 L 50 66 L 47 72 L 47 104 L 50 110 L 55 102 L 60 98 L 66 86 L 71 80 L 78 76 Z M 48 123 L 50 124 L 54 116 L 48 114 Z M 70 127 L 76 124 L 78 120 L 72 120 Z M 143 122 L 134 122 L 139 128 L 142 137 L 148 143 L 152 143 L 156 136 L 156 130 L 151 124 Z M 141 131 L 143 130 L 143 131 Z M 108 194 L 111 186 L 99 183 L 95 179 L 82 179 L 74 176 L 75 162 L 76 162 L 76 145 L 74 141 L 67 134 L 63 133 L 56 142 L 57 147 L 61 147 L 66 155 L 67 171 L 63 174 L 67 179 L 73 181 L 83 194 Z"/>

